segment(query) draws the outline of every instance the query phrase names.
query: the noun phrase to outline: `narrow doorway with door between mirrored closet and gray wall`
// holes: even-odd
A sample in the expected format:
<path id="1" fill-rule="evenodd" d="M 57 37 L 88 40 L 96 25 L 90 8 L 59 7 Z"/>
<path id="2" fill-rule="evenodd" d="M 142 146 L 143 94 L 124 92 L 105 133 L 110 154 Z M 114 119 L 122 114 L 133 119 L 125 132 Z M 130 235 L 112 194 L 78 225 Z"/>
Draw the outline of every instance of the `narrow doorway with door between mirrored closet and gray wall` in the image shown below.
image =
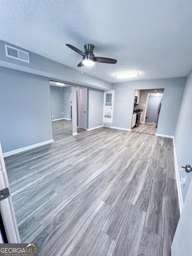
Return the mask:
<path id="1" fill-rule="evenodd" d="M 77 133 L 87 129 L 87 88 L 77 86 Z"/>

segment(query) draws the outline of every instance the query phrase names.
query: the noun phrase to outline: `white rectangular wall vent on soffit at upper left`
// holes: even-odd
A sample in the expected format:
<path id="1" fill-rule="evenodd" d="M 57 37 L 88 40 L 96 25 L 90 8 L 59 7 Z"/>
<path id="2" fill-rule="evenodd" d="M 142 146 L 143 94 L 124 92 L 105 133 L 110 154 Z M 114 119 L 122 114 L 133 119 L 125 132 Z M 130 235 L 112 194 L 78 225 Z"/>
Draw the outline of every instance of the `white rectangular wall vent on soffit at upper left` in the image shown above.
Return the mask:
<path id="1" fill-rule="evenodd" d="M 25 52 L 23 50 L 20 50 L 20 49 L 17 49 L 15 47 L 5 44 L 5 53 L 6 53 L 7 57 L 30 63 L 28 52 Z"/>

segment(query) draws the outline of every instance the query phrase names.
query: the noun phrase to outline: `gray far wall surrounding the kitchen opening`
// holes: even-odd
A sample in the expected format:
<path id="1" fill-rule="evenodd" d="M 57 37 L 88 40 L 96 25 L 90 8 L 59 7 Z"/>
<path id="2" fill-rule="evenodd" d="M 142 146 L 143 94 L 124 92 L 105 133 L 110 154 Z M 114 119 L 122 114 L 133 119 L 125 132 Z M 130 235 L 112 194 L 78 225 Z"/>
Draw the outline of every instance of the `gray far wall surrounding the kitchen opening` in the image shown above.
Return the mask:
<path id="1" fill-rule="evenodd" d="M 131 129 L 135 90 L 164 88 L 157 133 L 173 136 L 185 81 L 186 77 L 179 77 L 113 84 L 115 98 L 112 126 Z"/>

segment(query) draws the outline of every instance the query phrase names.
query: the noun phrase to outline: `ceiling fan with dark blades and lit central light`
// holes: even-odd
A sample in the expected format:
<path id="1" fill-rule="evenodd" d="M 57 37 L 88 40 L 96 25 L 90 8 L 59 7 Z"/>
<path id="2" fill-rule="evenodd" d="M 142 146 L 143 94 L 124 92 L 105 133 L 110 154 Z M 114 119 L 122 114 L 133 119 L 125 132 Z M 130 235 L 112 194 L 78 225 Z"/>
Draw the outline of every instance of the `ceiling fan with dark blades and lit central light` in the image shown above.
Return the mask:
<path id="1" fill-rule="evenodd" d="M 101 63 L 108 63 L 108 64 L 116 64 L 117 60 L 110 59 L 110 58 L 104 58 L 104 57 L 95 57 L 93 50 L 95 49 L 95 46 L 92 44 L 86 44 L 84 46 L 85 52 L 82 52 L 81 50 L 77 49 L 71 44 L 66 44 L 69 48 L 71 48 L 73 51 L 79 53 L 83 56 L 83 60 L 77 65 L 77 67 L 82 66 L 93 66 L 95 62 L 101 62 Z"/>

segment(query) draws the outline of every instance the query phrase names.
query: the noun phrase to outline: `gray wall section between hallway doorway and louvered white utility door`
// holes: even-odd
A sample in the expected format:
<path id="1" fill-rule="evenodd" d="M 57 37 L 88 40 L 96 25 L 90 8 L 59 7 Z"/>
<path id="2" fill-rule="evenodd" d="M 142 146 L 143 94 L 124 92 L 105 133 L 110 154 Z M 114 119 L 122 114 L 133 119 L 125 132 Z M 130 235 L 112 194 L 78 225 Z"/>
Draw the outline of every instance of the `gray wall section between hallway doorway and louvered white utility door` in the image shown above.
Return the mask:
<path id="1" fill-rule="evenodd" d="M 103 124 L 103 101 L 104 91 L 89 88 L 89 129 Z"/>

